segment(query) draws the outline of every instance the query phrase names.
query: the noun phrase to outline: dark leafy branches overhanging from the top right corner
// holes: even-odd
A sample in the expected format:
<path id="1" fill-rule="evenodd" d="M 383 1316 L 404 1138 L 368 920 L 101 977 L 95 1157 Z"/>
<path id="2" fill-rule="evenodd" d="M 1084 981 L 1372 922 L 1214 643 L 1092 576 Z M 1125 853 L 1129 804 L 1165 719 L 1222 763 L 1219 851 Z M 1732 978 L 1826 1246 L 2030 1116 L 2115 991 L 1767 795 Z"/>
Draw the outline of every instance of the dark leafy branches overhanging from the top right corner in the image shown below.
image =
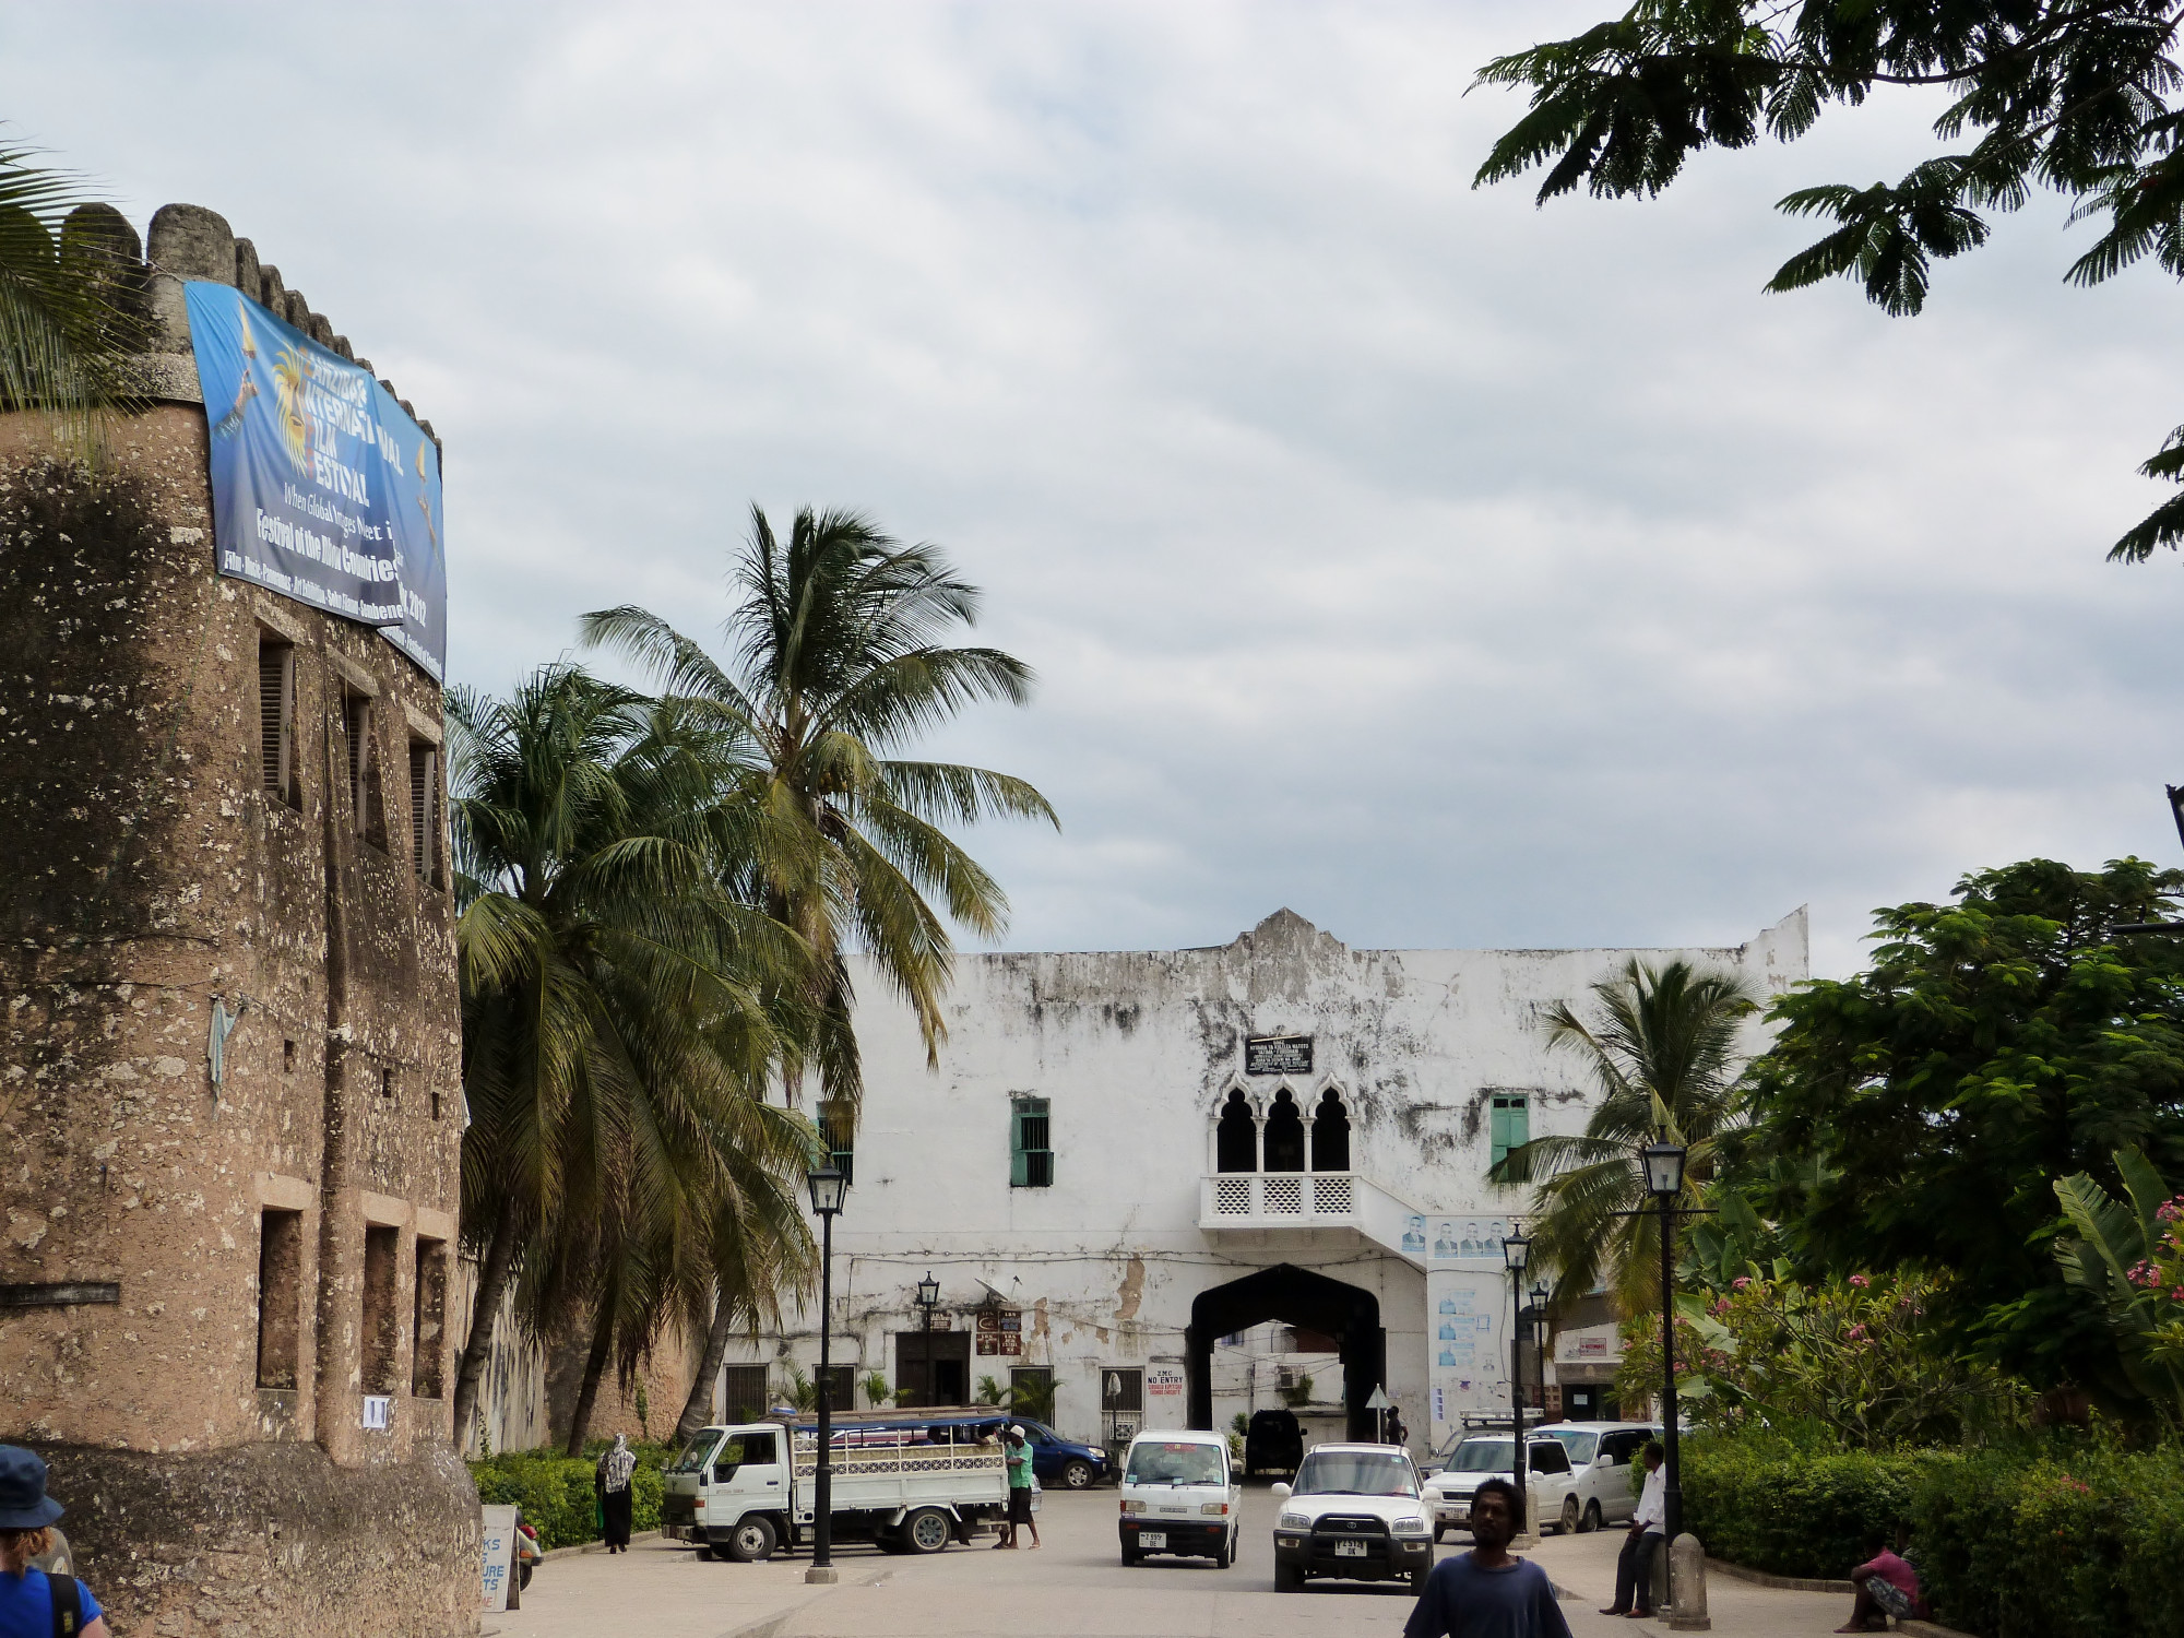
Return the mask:
<path id="1" fill-rule="evenodd" d="M 2103 223 L 2070 264 L 2073 284 L 2145 258 L 2184 277 L 2180 28 L 2175 0 L 1638 0 L 1481 70 L 1481 83 L 1529 87 L 1531 109 L 1479 181 L 1546 166 L 1540 203 L 1579 186 L 1658 194 L 1704 149 L 1793 142 L 1830 105 L 1942 87 L 1942 153 L 1894 183 L 1830 183 L 1780 201 L 1830 232 L 1784 262 L 1769 290 L 1850 277 L 1883 310 L 1918 312 L 1931 264 L 1983 245 L 1990 216 L 2035 190 L 2070 201 L 2070 221 Z M 2140 472 L 2184 480 L 2184 428 Z M 2110 557 L 2145 561 L 2177 544 L 2184 496 Z"/>

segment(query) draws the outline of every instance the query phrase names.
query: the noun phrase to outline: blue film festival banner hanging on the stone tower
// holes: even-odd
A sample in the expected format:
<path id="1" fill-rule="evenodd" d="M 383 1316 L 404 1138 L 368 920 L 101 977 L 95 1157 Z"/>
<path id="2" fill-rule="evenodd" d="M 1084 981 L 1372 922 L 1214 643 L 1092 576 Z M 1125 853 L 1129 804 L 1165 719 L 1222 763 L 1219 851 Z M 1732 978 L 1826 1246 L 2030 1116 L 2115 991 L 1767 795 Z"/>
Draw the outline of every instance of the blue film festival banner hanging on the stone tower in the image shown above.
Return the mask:
<path id="1" fill-rule="evenodd" d="M 439 448 L 367 369 L 232 284 L 190 280 L 221 574 L 256 581 L 448 668 Z"/>

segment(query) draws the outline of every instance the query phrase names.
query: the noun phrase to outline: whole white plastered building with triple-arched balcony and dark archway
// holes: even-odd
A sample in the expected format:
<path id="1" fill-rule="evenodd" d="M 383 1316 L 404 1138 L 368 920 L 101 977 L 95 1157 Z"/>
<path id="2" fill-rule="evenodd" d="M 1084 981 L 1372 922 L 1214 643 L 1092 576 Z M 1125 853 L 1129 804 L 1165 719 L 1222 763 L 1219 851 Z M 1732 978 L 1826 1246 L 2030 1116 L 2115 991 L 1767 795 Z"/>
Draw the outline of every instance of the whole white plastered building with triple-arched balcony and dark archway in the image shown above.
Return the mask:
<path id="1" fill-rule="evenodd" d="M 1120 1444 L 1230 1426 L 1313 1376 L 1321 1437 L 1365 1437 L 1385 1387 L 1413 1444 L 1439 1444 L 1511 1396 L 1500 1238 L 1527 1190 L 1487 1168 L 1581 1131 L 1599 1096 L 1540 1018 L 1634 957 L 1776 996 L 1806 976 L 1806 915 L 1690 950 L 1350 950 L 1278 911 L 1201 950 L 970 954 L 930 1070 L 911 1011 L 858 963 L 834 1402 L 854 1378 L 867 1404 L 871 1374 L 961 1402 L 1048 1372 L 1057 1428 Z M 1546 1367 L 1572 1415 L 1607 1409 L 1614 1326 L 1592 1319 Z M 810 1313 L 732 1345 L 721 1413 L 778 1398 L 791 1363 L 810 1374 L 815 1332 Z"/>

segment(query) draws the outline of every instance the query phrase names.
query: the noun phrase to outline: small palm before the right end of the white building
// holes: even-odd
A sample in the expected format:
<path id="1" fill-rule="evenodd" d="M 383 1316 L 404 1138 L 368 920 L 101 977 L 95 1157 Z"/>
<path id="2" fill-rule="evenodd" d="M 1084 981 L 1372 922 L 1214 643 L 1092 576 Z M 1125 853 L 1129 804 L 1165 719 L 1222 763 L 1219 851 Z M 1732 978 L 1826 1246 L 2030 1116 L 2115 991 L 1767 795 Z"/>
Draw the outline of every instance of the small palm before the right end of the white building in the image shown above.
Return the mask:
<path id="1" fill-rule="evenodd" d="M 1568 1002 L 1542 1020 L 1601 1088 L 1583 1136 L 1518 1144 L 1489 1182 L 1535 1184 L 1533 1256 L 1555 1271 L 1557 1310 L 1605 1282 L 1623 1313 L 1640 1313 L 1660 1299 L 1660 1216 L 1638 1210 L 1649 1203 L 1638 1149 L 1662 1131 L 1684 1144 L 1679 1203 L 1697 1199 L 1741 1118 L 1738 1033 L 1758 1000 L 1730 972 L 1638 959 L 1592 998 L 1590 1020 Z"/>

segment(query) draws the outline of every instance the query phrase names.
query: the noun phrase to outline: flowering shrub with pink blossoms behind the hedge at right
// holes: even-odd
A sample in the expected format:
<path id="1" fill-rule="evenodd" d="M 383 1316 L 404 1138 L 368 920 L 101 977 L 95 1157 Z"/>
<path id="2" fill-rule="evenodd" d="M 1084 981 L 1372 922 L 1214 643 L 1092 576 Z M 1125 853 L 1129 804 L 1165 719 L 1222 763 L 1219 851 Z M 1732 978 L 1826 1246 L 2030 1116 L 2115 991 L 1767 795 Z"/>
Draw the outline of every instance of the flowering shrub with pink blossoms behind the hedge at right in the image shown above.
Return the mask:
<path id="1" fill-rule="evenodd" d="M 1675 1380 L 1693 1424 L 1824 1428 L 1852 1448 L 1955 1437 L 1968 1409 L 2005 1385 L 1946 1356 L 1924 1326 L 1933 1275 L 1867 1275 L 1804 1284 L 1776 1265 L 1693 1293 L 1675 1315 Z M 1660 1387 L 1660 1321 L 1623 1326 L 1618 1396 Z"/>

